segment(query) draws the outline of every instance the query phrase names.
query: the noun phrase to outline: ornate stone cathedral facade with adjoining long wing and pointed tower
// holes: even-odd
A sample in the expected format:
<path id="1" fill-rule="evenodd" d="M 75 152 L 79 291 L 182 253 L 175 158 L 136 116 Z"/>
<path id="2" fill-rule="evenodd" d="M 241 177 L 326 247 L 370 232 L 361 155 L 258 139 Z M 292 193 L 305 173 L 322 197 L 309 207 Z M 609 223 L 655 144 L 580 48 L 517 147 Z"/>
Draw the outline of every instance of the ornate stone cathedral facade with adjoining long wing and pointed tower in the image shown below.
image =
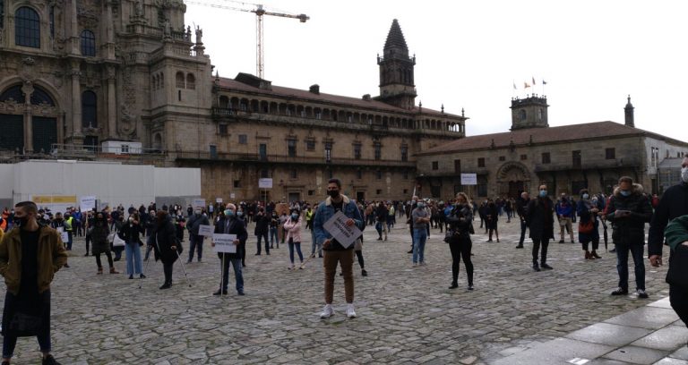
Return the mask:
<path id="1" fill-rule="evenodd" d="M 465 136 L 464 115 L 416 105 L 396 20 L 380 95 L 347 98 L 213 77 L 184 14 L 182 0 L 0 0 L 0 158 L 198 166 L 213 200 L 321 199 L 331 176 L 358 199 L 408 199 L 417 153 Z"/>

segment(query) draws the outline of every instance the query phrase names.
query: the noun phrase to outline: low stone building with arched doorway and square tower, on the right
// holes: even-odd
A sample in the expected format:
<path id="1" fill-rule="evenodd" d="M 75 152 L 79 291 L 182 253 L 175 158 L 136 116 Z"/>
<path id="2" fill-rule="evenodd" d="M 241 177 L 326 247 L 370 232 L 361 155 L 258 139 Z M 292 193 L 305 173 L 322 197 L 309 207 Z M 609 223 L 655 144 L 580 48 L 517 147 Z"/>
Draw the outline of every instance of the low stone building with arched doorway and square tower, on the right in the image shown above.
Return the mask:
<path id="1" fill-rule="evenodd" d="M 448 199 L 457 191 L 477 198 L 537 191 L 577 195 L 582 188 L 610 192 L 623 175 L 646 191 L 661 192 L 658 166 L 688 152 L 688 143 L 634 127 L 631 98 L 625 123 L 598 122 L 549 127 L 547 100 L 531 95 L 512 100 L 511 132 L 467 137 L 417 156 L 422 196 Z M 460 174 L 477 174 L 462 186 Z M 675 182 L 677 183 L 677 182 Z"/>

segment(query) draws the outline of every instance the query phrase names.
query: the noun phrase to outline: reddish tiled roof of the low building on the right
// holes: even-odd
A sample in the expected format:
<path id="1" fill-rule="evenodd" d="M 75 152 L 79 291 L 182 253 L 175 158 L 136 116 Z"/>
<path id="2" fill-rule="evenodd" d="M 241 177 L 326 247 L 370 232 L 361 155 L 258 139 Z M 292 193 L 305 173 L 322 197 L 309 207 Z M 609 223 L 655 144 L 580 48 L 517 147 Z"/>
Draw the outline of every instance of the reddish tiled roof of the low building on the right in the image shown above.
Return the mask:
<path id="1" fill-rule="evenodd" d="M 424 156 L 438 153 L 467 151 L 472 149 L 489 149 L 493 146 L 493 143 L 496 149 L 500 149 L 509 147 L 512 141 L 514 145 L 522 146 L 527 145 L 528 143 L 542 144 L 572 140 L 589 140 L 595 138 L 630 137 L 641 135 L 658 138 L 660 140 L 673 140 L 657 133 L 643 131 L 638 128 L 632 128 L 621 123 L 606 121 L 562 125 L 548 128 L 529 128 L 513 132 L 482 134 L 462 138 L 460 140 L 453 140 L 433 149 L 427 149 L 426 151 L 418 153 L 417 155 Z M 673 141 L 683 143 L 686 147 L 688 147 L 688 143 L 684 141 Z"/>

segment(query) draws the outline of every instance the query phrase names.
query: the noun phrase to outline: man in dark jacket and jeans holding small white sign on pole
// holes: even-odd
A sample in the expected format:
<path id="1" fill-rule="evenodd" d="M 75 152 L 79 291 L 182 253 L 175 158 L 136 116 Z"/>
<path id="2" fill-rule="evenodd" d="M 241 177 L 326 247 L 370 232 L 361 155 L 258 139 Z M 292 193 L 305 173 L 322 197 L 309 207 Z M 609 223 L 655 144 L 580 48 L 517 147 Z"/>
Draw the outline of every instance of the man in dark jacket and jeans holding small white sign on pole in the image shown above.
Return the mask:
<path id="1" fill-rule="evenodd" d="M 248 238 L 248 233 L 246 233 L 244 221 L 236 217 L 236 206 L 234 204 L 229 203 L 227 205 L 225 216 L 219 219 L 218 224 L 215 225 L 215 233 L 236 234 L 236 239 L 234 240 L 236 252 L 218 252 L 220 266 L 222 267 L 222 281 L 220 282 L 218 291 L 212 294 L 227 294 L 229 264 L 231 264 L 234 267 L 236 293 L 244 295 L 244 276 L 241 272 L 241 251 L 245 250 L 244 245 Z M 212 242 L 212 247 L 215 247 L 215 242 Z"/>

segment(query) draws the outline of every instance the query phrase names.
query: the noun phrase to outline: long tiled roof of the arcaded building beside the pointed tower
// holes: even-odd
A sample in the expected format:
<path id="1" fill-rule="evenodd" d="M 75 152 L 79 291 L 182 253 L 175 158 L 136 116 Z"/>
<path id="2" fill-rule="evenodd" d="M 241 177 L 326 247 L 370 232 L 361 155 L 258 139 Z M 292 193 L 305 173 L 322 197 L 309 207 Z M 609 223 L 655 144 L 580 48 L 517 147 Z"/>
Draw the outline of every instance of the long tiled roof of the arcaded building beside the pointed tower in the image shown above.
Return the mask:
<path id="1" fill-rule="evenodd" d="M 390 113 L 397 113 L 397 114 L 417 114 L 418 113 L 418 107 L 414 106 L 413 109 L 403 109 L 397 106 L 391 106 L 389 104 L 383 103 L 382 101 L 375 100 L 374 98 L 371 98 L 370 100 L 364 100 L 363 98 L 350 98 L 350 97 L 343 97 L 340 95 L 332 95 L 332 94 L 325 94 L 325 93 L 318 93 L 315 94 L 313 92 L 310 92 L 309 90 L 305 89 L 293 89 L 293 88 L 286 88 L 282 86 L 274 86 L 272 85 L 271 89 L 261 89 L 254 87 L 252 85 L 245 84 L 240 81 L 236 81 L 234 79 L 227 79 L 227 78 L 220 78 L 219 79 L 219 87 L 220 88 L 227 88 L 227 89 L 233 89 L 233 90 L 238 90 L 238 91 L 246 91 L 246 92 L 252 92 L 252 93 L 257 93 L 257 94 L 263 94 L 266 96 L 270 96 L 273 98 L 296 98 L 296 99 L 302 99 L 302 100 L 308 100 L 308 101 L 314 101 L 314 102 L 321 102 L 321 103 L 332 103 L 332 104 L 340 104 L 342 106 L 355 106 L 355 107 L 360 107 L 360 108 L 370 108 L 370 109 L 377 109 L 385 112 L 390 112 Z M 450 117 L 450 118 L 457 118 L 461 117 L 460 115 L 452 115 L 449 113 L 442 113 L 437 110 L 433 109 L 428 109 L 425 106 L 422 109 L 422 115 L 435 115 L 435 116 L 442 116 L 442 117 Z"/>

